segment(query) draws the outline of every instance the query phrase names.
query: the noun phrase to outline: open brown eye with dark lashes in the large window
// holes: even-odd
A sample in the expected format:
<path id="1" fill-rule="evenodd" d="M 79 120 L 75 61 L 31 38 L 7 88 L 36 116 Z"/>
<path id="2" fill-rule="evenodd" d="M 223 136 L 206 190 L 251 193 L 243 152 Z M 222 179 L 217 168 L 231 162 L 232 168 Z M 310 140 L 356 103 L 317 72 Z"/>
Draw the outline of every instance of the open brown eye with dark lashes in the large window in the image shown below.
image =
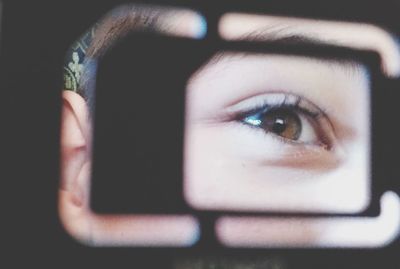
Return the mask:
<path id="1" fill-rule="evenodd" d="M 260 105 L 254 105 L 257 103 Z M 252 105 L 255 108 L 245 109 Z M 272 93 L 261 101 L 244 100 L 236 107 L 244 112 L 237 113 L 235 121 L 280 138 L 281 142 L 326 150 L 334 144 L 334 132 L 326 113 L 302 97 Z"/>

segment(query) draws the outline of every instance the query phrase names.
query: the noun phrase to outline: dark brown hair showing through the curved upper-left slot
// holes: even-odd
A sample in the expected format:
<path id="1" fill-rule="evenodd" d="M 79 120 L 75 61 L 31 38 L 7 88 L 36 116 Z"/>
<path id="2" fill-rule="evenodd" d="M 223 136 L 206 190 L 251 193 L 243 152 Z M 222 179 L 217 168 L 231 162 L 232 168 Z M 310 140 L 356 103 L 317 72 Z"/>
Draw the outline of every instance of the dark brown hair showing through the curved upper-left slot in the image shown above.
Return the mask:
<path id="1" fill-rule="evenodd" d="M 90 40 L 84 55 L 82 55 L 82 58 L 84 58 L 82 61 L 83 70 L 80 79 L 76 82 L 76 88 L 72 90 L 75 90 L 86 100 L 91 112 L 94 109 L 98 59 L 133 31 L 168 31 L 170 25 L 165 18 L 176 15 L 177 10 L 178 8 L 149 5 L 123 5 L 107 13 L 93 29 L 89 30 Z M 87 34 L 83 37 L 87 37 Z M 78 40 L 77 43 L 79 42 L 82 42 L 82 39 Z M 73 52 L 74 50 L 71 51 L 70 55 Z M 65 88 L 68 89 L 68 87 Z"/>

